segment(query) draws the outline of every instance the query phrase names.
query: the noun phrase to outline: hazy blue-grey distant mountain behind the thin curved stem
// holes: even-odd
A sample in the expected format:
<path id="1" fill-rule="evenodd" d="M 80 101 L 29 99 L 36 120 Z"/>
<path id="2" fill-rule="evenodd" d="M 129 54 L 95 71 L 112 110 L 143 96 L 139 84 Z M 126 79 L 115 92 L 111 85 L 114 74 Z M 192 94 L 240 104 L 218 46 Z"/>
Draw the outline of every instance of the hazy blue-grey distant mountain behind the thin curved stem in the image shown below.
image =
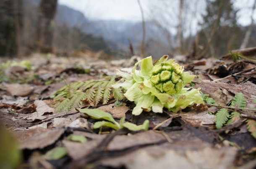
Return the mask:
<path id="1" fill-rule="evenodd" d="M 146 22 L 146 51 L 149 55 L 166 54 L 168 50 L 167 35 L 162 33 L 156 25 Z M 128 20 L 99 20 L 91 21 L 83 29 L 84 32 L 102 36 L 115 50 L 129 52 L 128 38 L 131 39 L 134 50 L 139 54 L 142 40 L 142 23 Z M 165 33 L 168 32 L 167 30 Z M 168 36 L 174 39 L 170 33 Z M 150 43 L 150 44 L 149 44 Z M 162 51 L 155 50 L 155 46 L 162 47 Z"/>

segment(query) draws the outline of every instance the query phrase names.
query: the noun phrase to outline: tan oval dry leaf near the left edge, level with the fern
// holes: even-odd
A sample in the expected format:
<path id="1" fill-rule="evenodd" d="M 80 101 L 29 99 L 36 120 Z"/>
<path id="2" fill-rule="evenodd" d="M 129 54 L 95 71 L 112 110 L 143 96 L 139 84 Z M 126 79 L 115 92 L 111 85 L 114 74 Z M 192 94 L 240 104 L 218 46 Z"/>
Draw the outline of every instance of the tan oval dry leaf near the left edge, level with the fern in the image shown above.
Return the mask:
<path id="1" fill-rule="evenodd" d="M 34 88 L 28 84 L 9 84 L 6 91 L 12 96 L 28 96 Z"/>

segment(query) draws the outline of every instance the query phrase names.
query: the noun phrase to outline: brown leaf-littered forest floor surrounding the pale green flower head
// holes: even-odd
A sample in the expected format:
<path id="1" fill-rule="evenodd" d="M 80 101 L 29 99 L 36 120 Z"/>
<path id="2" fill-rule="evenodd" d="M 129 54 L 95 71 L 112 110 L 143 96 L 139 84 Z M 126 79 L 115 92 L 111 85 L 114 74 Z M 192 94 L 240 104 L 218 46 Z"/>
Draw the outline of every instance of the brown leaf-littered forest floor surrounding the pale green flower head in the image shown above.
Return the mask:
<path id="1" fill-rule="evenodd" d="M 201 88 L 206 103 L 178 113 L 164 109 L 162 114 L 144 111 L 133 116 L 134 102 L 125 98 L 116 102 L 112 93 L 104 104 L 78 99 L 76 106 L 80 110 L 97 108 L 111 114 L 115 121 L 125 117 L 125 121 L 140 125 L 149 120 L 147 131 L 94 129 L 98 120 L 73 105 L 70 110 L 60 108 L 55 113 L 58 102 L 65 100 L 55 99 L 54 94 L 61 88 L 79 81 L 94 83 L 108 77 L 118 80 L 115 70 L 133 67 L 136 61 L 37 53 L 24 59 L 2 58 L 0 62 L 0 168 L 9 165 L 45 169 L 250 169 L 256 166 L 255 55 L 254 58 L 236 56 L 236 61 L 226 56 L 180 63 L 196 75 L 188 87 Z M 75 93 L 86 92 L 80 87 L 75 89 Z M 246 106 L 230 106 L 238 93 L 242 93 L 241 99 L 246 99 Z M 70 104 L 69 101 L 65 104 Z M 217 129 L 216 114 L 224 110 L 227 119 L 223 117 L 223 126 Z M 225 125 L 227 121 L 230 123 Z"/>

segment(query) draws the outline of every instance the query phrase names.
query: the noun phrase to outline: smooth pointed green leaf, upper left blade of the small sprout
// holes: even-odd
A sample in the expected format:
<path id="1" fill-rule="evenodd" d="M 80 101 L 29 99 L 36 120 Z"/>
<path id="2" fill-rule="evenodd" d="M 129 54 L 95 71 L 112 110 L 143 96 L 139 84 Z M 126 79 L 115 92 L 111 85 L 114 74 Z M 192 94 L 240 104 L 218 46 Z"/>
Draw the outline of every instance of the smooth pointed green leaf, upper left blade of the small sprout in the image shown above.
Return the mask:
<path id="1" fill-rule="evenodd" d="M 102 110 L 99 110 L 97 108 L 94 109 L 78 109 L 76 108 L 77 111 L 81 112 L 81 113 L 85 113 L 89 116 L 91 116 L 94 119 L 105 119 L 107 121 L 110 121 L 112 123 L 116 123 L 116 121 L 114 120 L 114 118 L 111 116 L 111 114 L 104 112 Z"/>

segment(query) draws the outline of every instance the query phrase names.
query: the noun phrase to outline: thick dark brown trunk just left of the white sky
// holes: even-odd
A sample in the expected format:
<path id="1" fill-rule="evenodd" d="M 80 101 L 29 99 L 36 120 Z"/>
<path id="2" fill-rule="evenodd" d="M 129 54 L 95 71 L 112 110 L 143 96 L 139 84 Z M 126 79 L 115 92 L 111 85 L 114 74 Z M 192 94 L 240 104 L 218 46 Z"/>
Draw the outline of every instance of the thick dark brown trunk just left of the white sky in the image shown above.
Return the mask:
<path id="1" fill-rule="evenodd" d="M 36 48 L 40 52 L 52 53 L 54 15 L 57 9 L 57 0 L 41 0 L 36 30 Z"/>

